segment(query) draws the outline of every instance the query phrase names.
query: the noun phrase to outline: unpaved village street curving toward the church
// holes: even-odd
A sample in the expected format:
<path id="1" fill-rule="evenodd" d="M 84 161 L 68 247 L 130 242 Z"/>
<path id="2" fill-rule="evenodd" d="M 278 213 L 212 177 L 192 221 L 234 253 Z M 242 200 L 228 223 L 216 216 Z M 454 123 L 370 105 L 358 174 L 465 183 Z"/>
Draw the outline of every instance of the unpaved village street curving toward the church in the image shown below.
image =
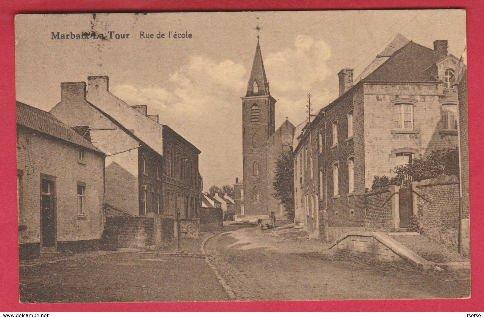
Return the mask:
<path id="1" fill-rule="evenodd" d="M 278 227 L 226 226 L 174 251 L 118 251 L 20 267 L 23 303 L 428 299 L 469 296 L 468 270 L 419 271 L 324 254 L 327 242 Z M 299 238 L 298 238 L 299 236 Z"/>

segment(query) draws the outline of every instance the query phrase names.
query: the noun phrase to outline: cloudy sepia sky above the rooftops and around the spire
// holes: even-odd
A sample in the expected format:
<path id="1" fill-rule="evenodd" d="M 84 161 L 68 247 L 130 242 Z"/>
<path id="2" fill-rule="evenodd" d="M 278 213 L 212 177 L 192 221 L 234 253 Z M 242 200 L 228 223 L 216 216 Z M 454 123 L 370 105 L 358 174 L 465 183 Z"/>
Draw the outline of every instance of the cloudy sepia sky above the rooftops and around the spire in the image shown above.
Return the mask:
<path id="1" fill-rule="evenodd" d="M 295 126 L 338 95 L 337 73 L 355 78 L 400 32 L 433 48 L 448 40 L 460 58 L 464 10 L 284 11 L 148 14 L 25 14 L 15 19 L 16 99 L 50 110 L 61 82 L 109 76 L 109 90 L 131 105 L 147 104 L 200 149 L 204 189 L 242 179 L 242 101 L 260 31 L 262 58 L 277 100 L 276 129 Z M 129 33 L 128 39 L 52 40 L 51 32 Z M 158 32 L 190 33 L 156 39 Z M 140 32 L 154 34 L 140 39 Z M 167 35 L 166 35 L 167 36 Z"/>

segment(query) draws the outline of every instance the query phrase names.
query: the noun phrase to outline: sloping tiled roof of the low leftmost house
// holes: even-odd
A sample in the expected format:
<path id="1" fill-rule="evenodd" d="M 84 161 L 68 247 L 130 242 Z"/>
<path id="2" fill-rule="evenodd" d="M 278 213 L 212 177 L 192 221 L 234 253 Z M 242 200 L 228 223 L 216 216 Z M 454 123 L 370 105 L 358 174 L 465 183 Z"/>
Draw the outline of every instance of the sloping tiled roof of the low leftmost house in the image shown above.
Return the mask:
<path id="1" fill-rule="evenodd" d="M 48 112 L 17 101 L 16 113 L 17 125 L 22 125 L 49 136 L 56 137 L 67 143 L 75 144 L 104 154 L 89 141 L 81 137 L 75 130 L 72 130 L 69 126 L 65 125 Z"/>

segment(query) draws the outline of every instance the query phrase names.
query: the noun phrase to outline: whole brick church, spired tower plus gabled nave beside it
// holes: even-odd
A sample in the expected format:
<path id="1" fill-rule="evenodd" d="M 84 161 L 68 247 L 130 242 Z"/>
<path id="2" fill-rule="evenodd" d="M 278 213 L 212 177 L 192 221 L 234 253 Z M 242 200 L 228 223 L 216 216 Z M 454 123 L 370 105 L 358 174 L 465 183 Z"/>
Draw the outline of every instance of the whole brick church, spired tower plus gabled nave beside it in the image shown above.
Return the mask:
<path id="1" fill-rule="evenodd" d="M 271 212 L 285 211 L 274 192 L 274 166 L 281 151 L 290 151 L 294 126 L 286 120 L 276 131 L 274 122 L 276 100 L 271 96 L 260 45 L 257 41 L 246 95 L 242 97 L 242 162 L 245 200 L 243 208 L 235 201 L 238 218 L 257 220 Z M 240 214 L 239 214 L 240 213 Z"/>

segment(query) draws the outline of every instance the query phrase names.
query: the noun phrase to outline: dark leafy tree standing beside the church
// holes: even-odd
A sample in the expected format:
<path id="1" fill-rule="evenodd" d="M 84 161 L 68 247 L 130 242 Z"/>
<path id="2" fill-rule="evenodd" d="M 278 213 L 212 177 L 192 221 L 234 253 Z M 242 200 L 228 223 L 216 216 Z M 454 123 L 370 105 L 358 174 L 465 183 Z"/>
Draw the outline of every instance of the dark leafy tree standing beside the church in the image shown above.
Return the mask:
<path id="1" fill-rule="evenodd" d="M 283 153 L 276 161 L 273 195 L 287 211 L 289 220 L 294 221 L 294 161 L 292 153 Z"/>

